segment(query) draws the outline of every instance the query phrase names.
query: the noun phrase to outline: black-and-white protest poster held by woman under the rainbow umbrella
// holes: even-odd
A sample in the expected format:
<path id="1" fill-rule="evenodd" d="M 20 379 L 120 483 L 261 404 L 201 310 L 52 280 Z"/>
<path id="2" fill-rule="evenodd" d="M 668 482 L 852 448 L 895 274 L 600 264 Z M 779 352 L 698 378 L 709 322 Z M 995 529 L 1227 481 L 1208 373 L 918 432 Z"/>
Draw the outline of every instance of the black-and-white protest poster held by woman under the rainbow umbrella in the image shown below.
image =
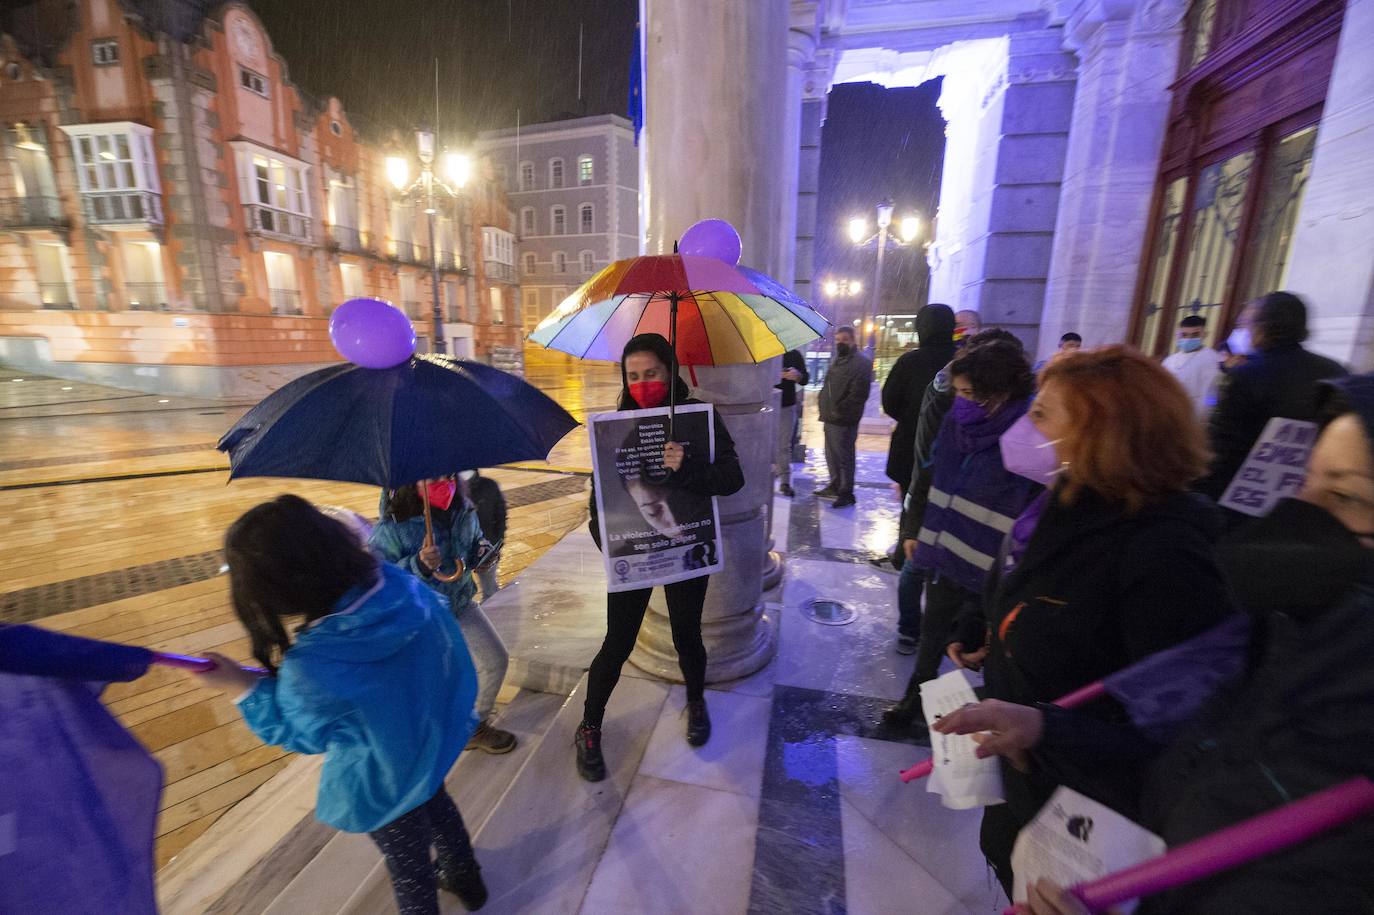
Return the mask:
<path id="1" fill-rule="evenodd" d="M 724 563 L 716 499 L 672 485 L 664 467 L 668 408 L 588 418 L 592 475 L 609 591 L 632 591 L 719 572 Z M 712 460 L 710 404 L 677 407 L 673 441 Z"/>

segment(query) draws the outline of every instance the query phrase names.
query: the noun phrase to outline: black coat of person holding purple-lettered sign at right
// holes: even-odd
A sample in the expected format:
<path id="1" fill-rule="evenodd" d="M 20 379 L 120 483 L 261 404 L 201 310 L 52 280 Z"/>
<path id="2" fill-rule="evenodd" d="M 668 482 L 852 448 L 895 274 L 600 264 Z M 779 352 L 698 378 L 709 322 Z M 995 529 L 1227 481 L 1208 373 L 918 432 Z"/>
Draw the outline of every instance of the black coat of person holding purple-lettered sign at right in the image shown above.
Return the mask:
<path id="1" fill-rule="evenodd" d="M 1208 423 L 1212 440 L 1212 467 L 1194 486 L 1220 499 L 1241 470 L 1264 425 L 1274 416 L 1314 422 L 1318 411 L 1318 383 L 1341 378 L 1345 368 L 1297 343 L 1264 350 L 1221 379 L 1216 409 Z"/>

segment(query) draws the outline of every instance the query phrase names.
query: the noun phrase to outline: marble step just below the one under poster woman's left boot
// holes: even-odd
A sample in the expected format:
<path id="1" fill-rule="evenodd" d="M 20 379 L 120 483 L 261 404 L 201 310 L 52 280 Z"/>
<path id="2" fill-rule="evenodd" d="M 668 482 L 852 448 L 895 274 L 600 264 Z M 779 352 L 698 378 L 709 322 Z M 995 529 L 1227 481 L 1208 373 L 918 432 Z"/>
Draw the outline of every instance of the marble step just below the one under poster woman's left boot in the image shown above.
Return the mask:
<path id="1" fill-rule="evenodd" d="M 561 695 L 522 690 L 500 716 L 500 725 L 519 736 L 515 750 L 504 756 L 474 752 L 459 757 L 447 784 L 470 831 L 475 833 L 491 817 L 497 801 L 539 750 L 544 732 L 565 701 Z M 381 867 L 381 860 L 376 846 L 367 835 L 333 833 L 319 855 L 275 899 L 265 905 L 258 900 L 239 911 L 262 915 L 323 915 L 344 911 L 359 890 L 359 878 L 371 877 L 372 870 Z M 386 886 L 390 888 L 390 882 Z M 389 910 L 378 911 L 394 911 L 389 899 L 385 905 Z"/>

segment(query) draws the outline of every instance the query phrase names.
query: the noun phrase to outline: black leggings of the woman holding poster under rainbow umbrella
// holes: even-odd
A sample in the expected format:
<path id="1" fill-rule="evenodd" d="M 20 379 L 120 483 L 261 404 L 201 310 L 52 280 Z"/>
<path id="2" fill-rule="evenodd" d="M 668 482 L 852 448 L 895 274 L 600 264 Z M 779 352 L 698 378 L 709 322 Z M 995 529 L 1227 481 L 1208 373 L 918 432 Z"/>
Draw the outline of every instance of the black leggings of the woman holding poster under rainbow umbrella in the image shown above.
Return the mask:
<path id="1" fill-rule="evenodd" d="M 668 598 L 668 621 L 673 628 L 673 647 L 677 664 L 687 681 L 687 701 L 699 699 L 706 692 L 706 646 L 701 642 L 701 606 L 706 600 L 710 576 L 664 585 Z M 611 690 L 620 681 L 620 669 L 635 650 L 639 626 L 649 609 L 653 588 L 614 591 L 606 595 L 606 640 L 587 673 L 587 702 L 583 721 L 600 727 L 610 702 Z"/>

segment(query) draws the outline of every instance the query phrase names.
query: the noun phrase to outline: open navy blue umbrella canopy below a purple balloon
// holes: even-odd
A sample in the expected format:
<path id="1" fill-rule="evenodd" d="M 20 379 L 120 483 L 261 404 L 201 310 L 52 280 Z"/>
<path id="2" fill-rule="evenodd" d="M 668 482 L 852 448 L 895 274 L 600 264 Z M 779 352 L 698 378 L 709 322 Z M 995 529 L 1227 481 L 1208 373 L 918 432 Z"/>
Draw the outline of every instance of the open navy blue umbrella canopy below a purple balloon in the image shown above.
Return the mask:
<path id="1" fill-rule="evenodd" d="M 394 368 L 331 365 L 264 398 L 220 438 L 229 478 L 397 488 L 543 460 L 577 420 L 515 375 L 448 356 Z"/>

